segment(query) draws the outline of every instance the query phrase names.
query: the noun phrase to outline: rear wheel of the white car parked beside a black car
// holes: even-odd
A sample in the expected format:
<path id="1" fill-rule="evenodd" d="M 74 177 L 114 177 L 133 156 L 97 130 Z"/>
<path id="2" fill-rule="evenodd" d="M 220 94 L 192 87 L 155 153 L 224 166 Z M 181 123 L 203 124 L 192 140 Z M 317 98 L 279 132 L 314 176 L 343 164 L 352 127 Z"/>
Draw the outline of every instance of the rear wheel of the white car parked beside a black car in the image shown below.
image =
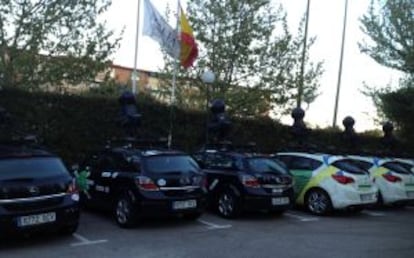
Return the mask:
<path id="1" fill-rule="evenodd" d="M 329 195 L 320 189 L 314 189 L 306 195 L 306 207 L 316 215 L 326 215 L 332 212 L 332 203 Z"/>

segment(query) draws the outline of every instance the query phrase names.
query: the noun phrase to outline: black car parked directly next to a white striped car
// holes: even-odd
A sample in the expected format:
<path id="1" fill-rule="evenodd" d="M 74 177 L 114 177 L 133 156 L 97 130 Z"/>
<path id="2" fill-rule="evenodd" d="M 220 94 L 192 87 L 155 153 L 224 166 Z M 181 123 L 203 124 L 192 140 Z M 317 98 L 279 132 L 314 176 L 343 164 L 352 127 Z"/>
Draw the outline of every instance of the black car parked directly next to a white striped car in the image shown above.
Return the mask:
<path id="1" fill-rule="evenodd" d="M 207 175 L 209 205 L 225 218 L 243 210 L 281 214 L 293 203 L 292 176 L 267 156 L 222 150 L 193 156 Z"/>

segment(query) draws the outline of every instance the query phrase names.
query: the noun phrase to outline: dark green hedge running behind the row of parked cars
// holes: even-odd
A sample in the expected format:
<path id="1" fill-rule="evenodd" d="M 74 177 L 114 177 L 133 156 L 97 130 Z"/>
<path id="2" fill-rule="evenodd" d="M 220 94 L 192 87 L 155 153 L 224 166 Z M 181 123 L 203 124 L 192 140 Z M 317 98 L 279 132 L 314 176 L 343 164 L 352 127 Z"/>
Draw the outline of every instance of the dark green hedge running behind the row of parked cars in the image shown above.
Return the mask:
<path id="1" fill-rule="evenodd" d="M 36 134 L 45 146 L 68 163 L 79 161 L 88 152 L 102 148 L 108 139 L 123 136 L 122 129 L 115 122 L 119 112 L 117 98 L 3 89 L 0 92 L 0 106 L 11 114 L 11 118 L 1 125 L 1 138 Z M 145 96 L 139 96 L 138 106 L 143 115 L 140 135 L 166 137 L 169 107 Z M 205 113 L 176 109 L 174 118 L 174 147 L 194 151 L 202 146 L 205 139 Z M 293 141 L 289 127 L 271 119 L 233 118 L 232 121 L 231 140 L 236 143 L 254 141 L 263 152 L 285 149 Z M 315 145 L 340 149 L 343 142 L 339 136 L 339 132 L 332 130 L 313 130 L 309 141 Z M 368 150 L 381 148 L 376 137 L 360 138 Z M 404 145 L 405 150 L 414 149 L 410 147 Z"/>

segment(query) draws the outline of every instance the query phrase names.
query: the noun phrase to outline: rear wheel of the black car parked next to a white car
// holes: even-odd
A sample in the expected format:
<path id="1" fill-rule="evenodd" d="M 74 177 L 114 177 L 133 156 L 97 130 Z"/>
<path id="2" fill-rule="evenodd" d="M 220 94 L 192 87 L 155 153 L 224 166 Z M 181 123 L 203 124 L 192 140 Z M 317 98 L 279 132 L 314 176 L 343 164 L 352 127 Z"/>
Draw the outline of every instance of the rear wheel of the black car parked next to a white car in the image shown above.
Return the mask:
<path id="1" fill-rule="evenodd" d="M 221 191 L 217 197 L 217 212 L 223 218 L 236 218 L 240 215 L 240 198 L 233 189 Z"/>

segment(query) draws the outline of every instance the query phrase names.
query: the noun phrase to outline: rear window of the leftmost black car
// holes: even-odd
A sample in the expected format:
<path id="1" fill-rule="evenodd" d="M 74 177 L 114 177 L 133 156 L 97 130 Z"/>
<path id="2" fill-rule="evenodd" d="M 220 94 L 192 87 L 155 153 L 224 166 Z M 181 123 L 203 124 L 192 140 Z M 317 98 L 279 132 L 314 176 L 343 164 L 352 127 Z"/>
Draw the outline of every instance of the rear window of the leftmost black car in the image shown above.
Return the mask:
<path id="1" fill-rule="evenodd" d="M 0 180 L 46 178 L 68 175 L 59 158 L 30 157 L 0 160 Z"/>

